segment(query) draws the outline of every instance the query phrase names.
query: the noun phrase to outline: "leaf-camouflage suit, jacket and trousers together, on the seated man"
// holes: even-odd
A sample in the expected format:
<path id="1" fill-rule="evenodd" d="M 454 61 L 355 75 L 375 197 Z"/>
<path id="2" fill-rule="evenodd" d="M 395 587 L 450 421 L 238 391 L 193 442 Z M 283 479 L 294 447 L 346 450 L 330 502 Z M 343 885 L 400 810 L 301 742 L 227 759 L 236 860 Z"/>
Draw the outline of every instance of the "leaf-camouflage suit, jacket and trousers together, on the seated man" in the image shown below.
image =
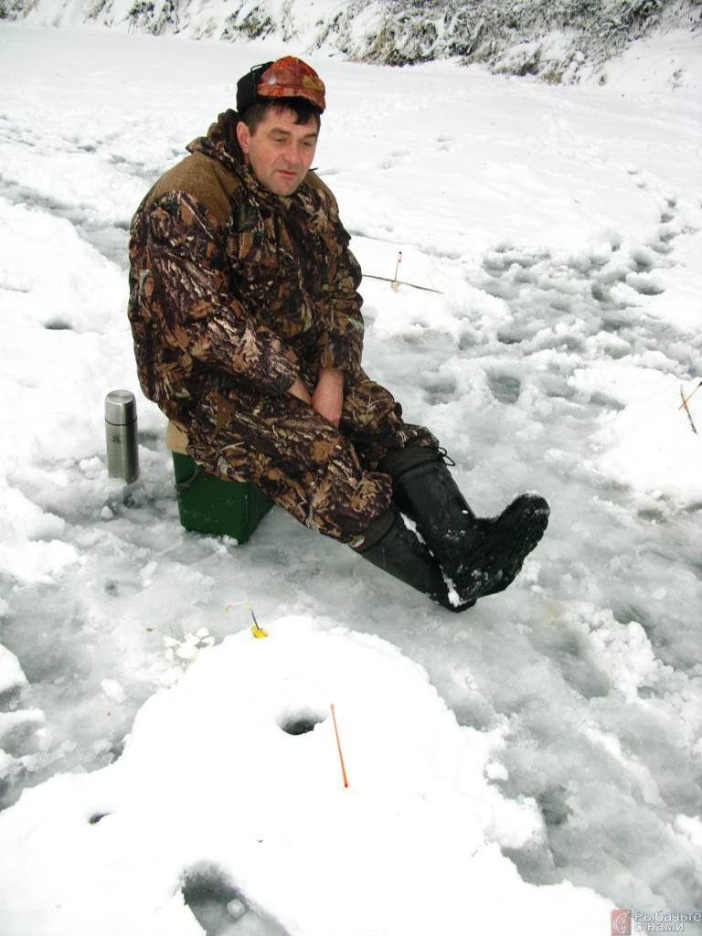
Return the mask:
<path id="1" fill-rule="evenodd" d="M 361 369 L 361 273 L 314 172 L 277 196 L 244 166 L 227 110 L 144 198 L 131 227 L 129 319 L 146 396 L 206 471 L 251 480 L 357 546 L 389 505 L 390 451 L 437 446 Z M 336 430 L 287 392 L 344 372 Z"/>

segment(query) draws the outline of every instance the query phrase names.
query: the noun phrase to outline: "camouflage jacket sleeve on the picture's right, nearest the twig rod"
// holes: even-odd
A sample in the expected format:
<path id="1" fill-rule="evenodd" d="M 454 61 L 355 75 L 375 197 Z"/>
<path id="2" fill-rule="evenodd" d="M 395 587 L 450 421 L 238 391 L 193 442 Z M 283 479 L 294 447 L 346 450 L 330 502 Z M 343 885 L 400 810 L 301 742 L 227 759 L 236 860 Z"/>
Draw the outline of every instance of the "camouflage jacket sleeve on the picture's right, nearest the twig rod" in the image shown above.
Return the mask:
<path id="1" fill-rule="evenodd" d="M 339 220 L 336 199 L 329 189 L 331 251 L 328 275 L 322 284 L 317 312 L 322 323 L 317 340 L 320 367 L 333 367 L 345 373 L 358 373 L 363 352 L 363 300 L 358 295 L 362 278 L 358 260 L 349 250 L 351 238 Z"/>

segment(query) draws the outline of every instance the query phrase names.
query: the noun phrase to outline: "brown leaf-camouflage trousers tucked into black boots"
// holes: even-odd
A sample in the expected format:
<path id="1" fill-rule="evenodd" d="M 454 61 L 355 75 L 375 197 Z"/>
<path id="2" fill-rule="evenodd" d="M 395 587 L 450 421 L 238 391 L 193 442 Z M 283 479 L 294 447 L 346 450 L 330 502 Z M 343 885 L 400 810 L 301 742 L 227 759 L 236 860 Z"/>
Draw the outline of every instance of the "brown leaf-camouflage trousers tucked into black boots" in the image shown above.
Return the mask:
<path id="1" fill-rule="evenodd" d="M 350 546 L 390 504 L 392 482 L 378 462 L 398 448 L 438 446 L 362 371 L 346 378 L 339 430 L 289 393 L 243 387 L 212 390 L 178 421 L 205 471 L 252 481 L 300 523 Z"/>

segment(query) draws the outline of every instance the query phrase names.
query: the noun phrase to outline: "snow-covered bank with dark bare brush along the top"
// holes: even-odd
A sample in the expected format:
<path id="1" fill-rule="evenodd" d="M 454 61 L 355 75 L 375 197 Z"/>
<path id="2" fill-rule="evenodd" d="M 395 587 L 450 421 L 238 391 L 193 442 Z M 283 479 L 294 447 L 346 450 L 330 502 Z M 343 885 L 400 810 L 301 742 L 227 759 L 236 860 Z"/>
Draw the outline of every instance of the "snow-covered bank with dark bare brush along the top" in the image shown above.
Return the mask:
<path id="1" fill-rule="evenodd" d="M 606 63 L 643 37 L 700 34 L 700 0 L 0 0 L 0 17 L 51 26 L 228 41 L 406 65 L 437 58 L 549 82 L 607 80 Z M 685 83 L 684 68 L 670 80 Z"/>

